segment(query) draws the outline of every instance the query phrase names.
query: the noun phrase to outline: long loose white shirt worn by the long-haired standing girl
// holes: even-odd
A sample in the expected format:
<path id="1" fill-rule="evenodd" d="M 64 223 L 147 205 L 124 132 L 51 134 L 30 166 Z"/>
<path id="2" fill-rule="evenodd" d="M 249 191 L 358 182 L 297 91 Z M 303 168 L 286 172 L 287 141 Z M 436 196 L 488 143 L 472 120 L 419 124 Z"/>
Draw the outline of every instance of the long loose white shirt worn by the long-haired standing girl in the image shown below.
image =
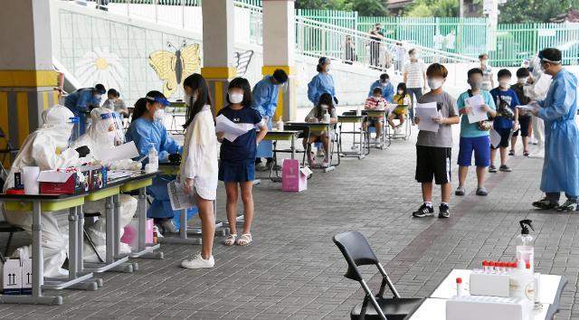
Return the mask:
<path id="1" fill-rule="evenodd" d="M 214 116 L 211 107 L 204 106 L 185 133 L 181 181 L 194 179 L 195 192 L 205 200 L 215 200 L 218 173 Z"/>

